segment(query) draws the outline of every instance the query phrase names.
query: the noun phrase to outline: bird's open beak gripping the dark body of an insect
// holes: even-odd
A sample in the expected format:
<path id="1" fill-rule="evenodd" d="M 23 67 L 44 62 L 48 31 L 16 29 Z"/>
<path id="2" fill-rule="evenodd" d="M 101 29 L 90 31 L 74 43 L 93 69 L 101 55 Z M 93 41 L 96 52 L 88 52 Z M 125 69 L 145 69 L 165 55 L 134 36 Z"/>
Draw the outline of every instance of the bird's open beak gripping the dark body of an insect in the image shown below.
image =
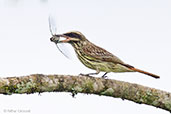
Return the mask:
<path id="1" fill-rule="evenodd" d="M 50 40 L 55 43 L 68 43 L 70 41 L 79 41 L 79 39 L 77 38 L 72 38 L 63 34 L 54 35 L 50 38 Z"/>

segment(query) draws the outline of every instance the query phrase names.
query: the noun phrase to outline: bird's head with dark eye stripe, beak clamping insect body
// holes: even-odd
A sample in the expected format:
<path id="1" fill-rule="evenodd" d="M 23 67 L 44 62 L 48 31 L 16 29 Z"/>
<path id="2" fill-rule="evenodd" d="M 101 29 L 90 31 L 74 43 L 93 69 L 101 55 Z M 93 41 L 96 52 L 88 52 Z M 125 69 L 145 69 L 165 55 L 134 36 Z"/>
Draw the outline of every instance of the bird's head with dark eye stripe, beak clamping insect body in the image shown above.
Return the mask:
<path id="1" fill-rule="evenodd" d="M 78 31 L 71 31 L 64 34 L 54 35 L 53 37 L 50 38 L 50 40 L 55 43 L 70 43 L 70 44 L 87 41 L 85 36 Z"/>

